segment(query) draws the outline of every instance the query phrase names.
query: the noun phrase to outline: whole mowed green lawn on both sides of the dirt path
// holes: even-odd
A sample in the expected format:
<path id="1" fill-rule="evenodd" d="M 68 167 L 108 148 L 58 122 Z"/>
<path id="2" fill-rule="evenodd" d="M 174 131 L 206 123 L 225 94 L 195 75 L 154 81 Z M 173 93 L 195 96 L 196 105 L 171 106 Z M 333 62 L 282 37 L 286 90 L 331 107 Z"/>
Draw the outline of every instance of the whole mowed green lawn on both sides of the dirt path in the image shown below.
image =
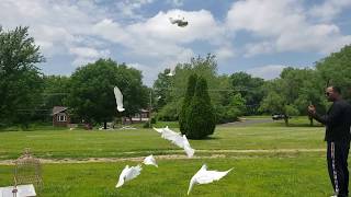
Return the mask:
<path id="1" fill-rule="evenodd" d="M 191 140 L 195 159 L 158 159 L 159 167 L 143 166 L 141 174 L 116 189 L 121 171 L 136 161 L 43 164 L 42 196 L 186 196 L 190 178 L 206 163 L 210 170 L 234 170 L 219 182 L 196 185 L 190 196 L 328 196 L 325 151 L 249 152 L 220 150 L 324 149 L 322 127 L 304 119 L 246 127 L 217 127 L 206 140 Z M 177 130 L 177 129 L 176 129 Z M 0 162 L 15 159 L 24 148 L 45 159 L 133 158 L 184 154 L 151 129 L 0 131 Z M 173 151 L 174 150 L 174 151 Z M 176 151 L 177 150 L 177 151 Z M 211 150 L 217 150 L 212 153 Z M 220 154 L 218 158 L 206 158 Z M 12 184 L 13 166 L 0 165 L 0 186 Z"/>

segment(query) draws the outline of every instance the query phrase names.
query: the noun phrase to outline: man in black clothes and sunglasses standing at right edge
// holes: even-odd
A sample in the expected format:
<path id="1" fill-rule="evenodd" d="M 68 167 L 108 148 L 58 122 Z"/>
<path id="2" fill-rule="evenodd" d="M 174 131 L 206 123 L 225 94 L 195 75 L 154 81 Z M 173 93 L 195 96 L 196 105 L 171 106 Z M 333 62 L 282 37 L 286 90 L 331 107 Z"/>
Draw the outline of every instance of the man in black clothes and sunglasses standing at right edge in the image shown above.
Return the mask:
<path id="1" fill-rule="evenodd" d="M 338 86 L 327 88 L 326 96 L 329 102 L 332 102 L 326 115 L 319 115 L 313 105 L 308 106 L 308 113 L 326 126 L 327 162 L 329 177 L 335 189 L 333 196 L 348 196 L 351 105 L 342 100 Z"/>

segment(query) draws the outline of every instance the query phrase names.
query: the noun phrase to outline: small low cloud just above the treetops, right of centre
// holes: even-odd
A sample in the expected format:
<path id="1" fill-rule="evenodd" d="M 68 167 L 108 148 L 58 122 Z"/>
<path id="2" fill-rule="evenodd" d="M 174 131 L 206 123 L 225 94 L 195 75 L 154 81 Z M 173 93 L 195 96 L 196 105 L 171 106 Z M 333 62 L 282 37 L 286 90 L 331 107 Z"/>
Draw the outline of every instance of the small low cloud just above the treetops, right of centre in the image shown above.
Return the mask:
<path id="1" fill-rule="evenodd" d="M 284 68 L 286 68 L 286 66 L 268 65 L 263 67 L 256 67 L 256 68 L 248 69 L 246 72 L 257 78 L 271 80 L 271 79 L 278 78 Z"/>

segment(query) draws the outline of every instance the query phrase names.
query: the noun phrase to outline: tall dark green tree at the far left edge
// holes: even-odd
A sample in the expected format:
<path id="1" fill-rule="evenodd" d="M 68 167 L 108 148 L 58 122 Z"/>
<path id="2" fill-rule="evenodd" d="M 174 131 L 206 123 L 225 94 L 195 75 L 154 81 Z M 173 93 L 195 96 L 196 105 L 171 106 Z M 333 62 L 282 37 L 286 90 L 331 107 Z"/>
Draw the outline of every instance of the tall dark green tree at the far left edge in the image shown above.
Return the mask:
<path id="1" fill-rule="evenodd" d="M 42 100 L 43 79 L 35 63 L 44 61 L 27 30 L 0 27 L 0 119 L 24 127 Z"/>

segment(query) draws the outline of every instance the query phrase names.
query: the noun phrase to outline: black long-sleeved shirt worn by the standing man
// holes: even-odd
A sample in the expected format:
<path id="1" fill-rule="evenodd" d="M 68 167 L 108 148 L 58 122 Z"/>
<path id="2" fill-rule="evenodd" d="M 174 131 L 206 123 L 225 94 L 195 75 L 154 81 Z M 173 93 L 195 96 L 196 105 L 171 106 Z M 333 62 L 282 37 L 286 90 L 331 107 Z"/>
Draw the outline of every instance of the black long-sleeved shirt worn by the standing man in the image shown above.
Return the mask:
<path id="1" fill-rule="evenodd" d="M 316 113 L 313 117 L 326 125 L 326 141 L 350 142 L 351 105 L 348 102 L 335 101 L 326 115 Z"/>

